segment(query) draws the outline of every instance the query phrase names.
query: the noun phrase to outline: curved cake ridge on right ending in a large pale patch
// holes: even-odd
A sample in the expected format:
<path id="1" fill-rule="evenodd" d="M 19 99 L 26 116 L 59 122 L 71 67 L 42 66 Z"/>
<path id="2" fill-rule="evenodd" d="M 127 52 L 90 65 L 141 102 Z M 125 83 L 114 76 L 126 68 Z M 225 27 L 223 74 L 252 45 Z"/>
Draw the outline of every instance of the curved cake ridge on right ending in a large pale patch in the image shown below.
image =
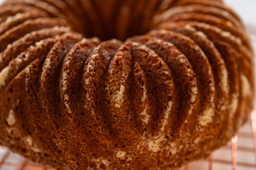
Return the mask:
<path id="1" fill-rule="evenodd" d="M 196 110 L 196 127 L 194 129 L 190 129 L 188 133 L 189 140 L 183 140 L 180 142 L 180 145 L 183 146 L 181 153 L 184 153 L 184 155 L 182 156 L 191 158 L 190 156 L 192 155 L 185 153 L 184 150 L 197 150 L 197 147 L 204 147 L 206 149 L 207 146 L 202 145 L 202 143 L 198 141 L 200 141 L 201 138 L 204 138 L 204 140 L 207 139 L 209 136 L 208 133 L 211 134 L 211 132 L 216 132 L 214 130 L 215 128 L 213 128 L 214 126 L 212 126 L 214 110 L 216 107 L 214 103 L 216 89 L 211 66 L 205 54 L 192 39 L 182 34 L 164 30 L 152 31 L 149 35 L 173 43 L 188 58 L 193 70 L 195 71 L 199 98 L 199 104 L 197 105 Z M 191 146 L 193 144 L 193 148 L 187 148 L 187 146 Z M 196 156 L 197 154 L 193 154 L 193 157 Z"/>

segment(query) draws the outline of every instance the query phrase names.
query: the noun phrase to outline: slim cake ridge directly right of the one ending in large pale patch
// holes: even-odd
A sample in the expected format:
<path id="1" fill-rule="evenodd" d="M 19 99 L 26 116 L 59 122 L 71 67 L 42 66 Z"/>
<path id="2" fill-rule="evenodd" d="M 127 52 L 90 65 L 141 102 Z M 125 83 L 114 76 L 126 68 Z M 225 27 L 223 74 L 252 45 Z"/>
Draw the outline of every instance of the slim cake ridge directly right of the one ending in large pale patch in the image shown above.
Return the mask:
<path id="1" fill-rule="evenodd" d="M 169 27 L 170 29 L 170 27 Z M 190 37 L 192 40 L 194 40 L 197 45 L 203 50 L 205 55 L 208 58 L 208 61 L 211 65 L 211 68 L 213 70 L 214 80 L 215 80 L 215 116 L 214 116 L 214 123 L 216 126 L 219 127 L 219 129 L 225 129 L 227 126 L 223 127 L 220 125 L 219 122 L 223 121 L 227 118 L 227 99 L 228 99 L 228 91 L 229 91 L 229 85 L 228 85 L 228 71 L 225 67 L 225 63 L 223 59 L 221 58 L 220 53 L 215 48 L 213 42 L 211 42 L 205 34 L 202 32 L 197 32 L 197 30 L 193 27 L 190 27 L 189 25 L 186 25 L 184 27 L 180 26 L 173 26 L 171 29 L 175 32 L 184 34 L 188 37 Z M 221 133 L 222 131 L 219 130 Z M 214 132 L 212 132 L 212 135 L 214 135 Z M 219 136 L 219 135 L 216 135 Z M 217 143 L 217 142 L 215 142 Z"/>

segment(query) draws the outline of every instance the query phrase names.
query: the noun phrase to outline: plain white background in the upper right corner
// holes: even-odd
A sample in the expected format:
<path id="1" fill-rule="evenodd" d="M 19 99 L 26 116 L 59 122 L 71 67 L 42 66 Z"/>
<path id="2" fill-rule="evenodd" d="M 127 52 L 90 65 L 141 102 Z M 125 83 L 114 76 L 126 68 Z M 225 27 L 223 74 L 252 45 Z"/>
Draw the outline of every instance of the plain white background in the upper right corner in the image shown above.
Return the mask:
<path id="1" fill-rule="evenodd" d="M 0 0 L 2 2 L 3 0 Z M 225 0 L 243 19 L 245 24 L 256 25 L 256 0 Z"/>

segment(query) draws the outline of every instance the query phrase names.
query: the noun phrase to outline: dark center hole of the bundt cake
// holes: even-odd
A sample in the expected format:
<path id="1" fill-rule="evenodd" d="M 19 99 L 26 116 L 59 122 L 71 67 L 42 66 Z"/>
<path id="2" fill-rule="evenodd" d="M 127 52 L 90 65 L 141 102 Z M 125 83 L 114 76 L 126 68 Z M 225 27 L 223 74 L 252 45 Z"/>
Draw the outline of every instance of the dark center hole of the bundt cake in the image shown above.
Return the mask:
<path id="1" fill-rule="evenodd" d="M 133 14 L 131 8 L 124 7 L 119 15 L 113 15 L 113 17 L 109 17 L 106 14 L 98 14 L 98 20 L 91 21 L 84 18 L 82 34 L 86 38 L 98 37 L 101 41 L 112 38 L 125 41 L 129 37 L 149 31 L 151 18 L 143 20 L 143 15 Z"/>

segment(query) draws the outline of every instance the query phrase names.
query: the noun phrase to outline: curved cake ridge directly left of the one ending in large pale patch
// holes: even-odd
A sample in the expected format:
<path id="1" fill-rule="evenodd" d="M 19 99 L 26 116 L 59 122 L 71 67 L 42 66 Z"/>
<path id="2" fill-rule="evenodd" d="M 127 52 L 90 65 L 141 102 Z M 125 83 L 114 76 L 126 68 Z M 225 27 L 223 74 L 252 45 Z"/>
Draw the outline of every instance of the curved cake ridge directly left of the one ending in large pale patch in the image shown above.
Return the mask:
<path id="1" fill-rule="evenodd" d="M 168 65 L 172 75 L 174 77 L 174 84 L 179 88 L 176 89 L 177 94 L 177 111 L 179 114 L 174 114 L 172 117 L 173 123 L 171 131 L 175 132 L 177 129 L 182 129 L 184 121 L 188 121 L 187 117 L 193 116 L 185 127 L 188 129 L 195 128 L 196 117 L 191 115 L 192 110 L 197 107 L 198 97 L 197 94 L 192 91 L 193 88 L 197 87 L 195 73 L 192 69 L 188 59 L 177 50 L 177 48 L 164 40 L 153 38 L 150 36 L 138 36 L 129 39 L 141 43 L 153 51 L 155 51 Z M 143 87 L 143 86 L 142 86 Z M 148 106 L 152 106 L 149 104 Z M 143 108 L 143 107 L 142 107 Z M 193 122 L 192 122 L 193 121 Z M 173 138 L 175 139 L 178 134 L 174 133 Z"/>

